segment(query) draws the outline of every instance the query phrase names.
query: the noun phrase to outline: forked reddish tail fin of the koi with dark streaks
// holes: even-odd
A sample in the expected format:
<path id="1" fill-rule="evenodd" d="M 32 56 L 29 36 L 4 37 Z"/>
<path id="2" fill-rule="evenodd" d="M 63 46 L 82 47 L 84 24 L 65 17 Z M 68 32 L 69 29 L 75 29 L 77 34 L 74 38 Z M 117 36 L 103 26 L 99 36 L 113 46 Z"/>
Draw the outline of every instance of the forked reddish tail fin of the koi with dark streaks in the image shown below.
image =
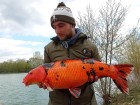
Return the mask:
<path id="1" fill-rule="evenodd" d="M 113 79 L 116 86 L 120 89 L 120 91 L 124 94 L 128 95 L 128 83 L 127 76 L 133 69 L 133 65 L 131 64 L 118 64 L 113 65 L 117 70 L 117 77 Z"/>

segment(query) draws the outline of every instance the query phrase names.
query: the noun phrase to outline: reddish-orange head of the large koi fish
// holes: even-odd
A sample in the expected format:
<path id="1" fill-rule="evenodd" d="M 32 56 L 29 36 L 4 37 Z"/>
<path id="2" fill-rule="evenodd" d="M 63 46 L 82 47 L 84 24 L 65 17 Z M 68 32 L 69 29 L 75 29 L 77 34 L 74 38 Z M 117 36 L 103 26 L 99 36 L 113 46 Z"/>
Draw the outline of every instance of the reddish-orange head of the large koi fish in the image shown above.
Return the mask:
<path id="1" fill-rule="evenodd" d="M 29 73 L 23 78 L 22 83 L 26 86 L 39 84 L 45 79 L 46 75 L 45 68 L 41 65 L 29 71 Z"/>

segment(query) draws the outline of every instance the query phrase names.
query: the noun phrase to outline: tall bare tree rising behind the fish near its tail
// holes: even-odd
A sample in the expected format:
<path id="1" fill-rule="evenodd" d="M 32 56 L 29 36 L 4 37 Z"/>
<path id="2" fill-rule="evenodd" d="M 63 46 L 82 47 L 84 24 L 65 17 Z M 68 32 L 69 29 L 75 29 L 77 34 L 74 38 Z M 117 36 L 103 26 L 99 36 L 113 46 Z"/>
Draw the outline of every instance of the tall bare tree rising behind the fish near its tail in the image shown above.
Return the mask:
<path id="1" fill-rule="evenodd" d="M 119 30 L 123 26 L 123 22 L 127 13 L 127 9 L 121 5 L 121 2 L 115 3 L 115 0 L 108 0 L 106 6 L 100 9 L 98 20 L 98 36 L 101 36 L 101 52 L 106 63 L 111 64 L 119 47 L 124 42 Z M 104 99 L 104 105 L 111 102 L 111 79 L 105 78 L 101 80 L 101 87 Z"/>

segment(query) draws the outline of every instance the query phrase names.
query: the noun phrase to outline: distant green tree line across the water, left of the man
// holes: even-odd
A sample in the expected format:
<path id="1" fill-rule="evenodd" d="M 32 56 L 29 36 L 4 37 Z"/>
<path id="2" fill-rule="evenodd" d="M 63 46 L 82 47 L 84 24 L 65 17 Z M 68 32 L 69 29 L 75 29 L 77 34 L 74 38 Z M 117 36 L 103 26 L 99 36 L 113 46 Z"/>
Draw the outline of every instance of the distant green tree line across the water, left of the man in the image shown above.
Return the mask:
<path id="1" fill-rule="evenodd" d="M 18 59 L 8 60 L 0 63 L 0 73 L 22 73 L 29 72 L 31 69 L 43 64 L 43 58 L 39 51 L 33 53 L 29 60 Z"/>

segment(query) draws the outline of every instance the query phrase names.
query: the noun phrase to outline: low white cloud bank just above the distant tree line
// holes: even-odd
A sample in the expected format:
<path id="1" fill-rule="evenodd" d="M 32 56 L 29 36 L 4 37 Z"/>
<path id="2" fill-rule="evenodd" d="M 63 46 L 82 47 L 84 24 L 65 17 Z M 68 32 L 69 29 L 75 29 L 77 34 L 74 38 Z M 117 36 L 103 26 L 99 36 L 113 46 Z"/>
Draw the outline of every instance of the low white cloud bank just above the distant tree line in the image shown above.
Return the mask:
<path id="1" fill-rule="evenodd" d="M 33 52 L 42 46 L 42 42 L 14 40 L 8 38 L 0 38 L 0 62 L 8 59 L 29 59 L 32 57 Z"/>

